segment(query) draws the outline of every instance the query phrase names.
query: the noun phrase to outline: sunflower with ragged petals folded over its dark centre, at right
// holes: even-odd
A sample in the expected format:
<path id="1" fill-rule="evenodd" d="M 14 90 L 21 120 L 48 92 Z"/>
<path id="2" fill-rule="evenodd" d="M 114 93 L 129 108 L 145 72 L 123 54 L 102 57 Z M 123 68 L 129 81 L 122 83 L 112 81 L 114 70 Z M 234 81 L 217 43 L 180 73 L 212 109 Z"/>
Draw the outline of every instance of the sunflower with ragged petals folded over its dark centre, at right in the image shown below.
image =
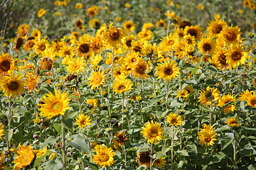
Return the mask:
<path id="1" fill-rule="evenodd" d="M 218 98 L 220 97 L 218 89 L 215 89 L 215 87 L 213 87 L 210 90 L 210 86 L 206 88 L 206 91 L 201 90 L 199 94 L 201 96 L 199 97 L 198 101 L 201 103 L 202 106 L 210 106 L 210 102 L 218 101 Z"/>

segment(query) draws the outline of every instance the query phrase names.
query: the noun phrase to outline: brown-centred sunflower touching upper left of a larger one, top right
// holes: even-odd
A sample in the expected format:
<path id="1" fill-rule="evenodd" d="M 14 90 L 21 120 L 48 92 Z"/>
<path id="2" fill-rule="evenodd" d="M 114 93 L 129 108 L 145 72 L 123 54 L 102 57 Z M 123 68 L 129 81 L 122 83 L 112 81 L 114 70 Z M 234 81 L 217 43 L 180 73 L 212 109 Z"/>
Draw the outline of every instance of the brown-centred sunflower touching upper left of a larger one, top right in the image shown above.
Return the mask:
<path id="1" fill-rule="evenodd" d="M 206 30 L 209 32 L 210 36 L 216 38 L 225 26 L 227 26 L 227 23 L 222 19 L 217 18 L 215 21 L 210 21 L 210 23 L 208 23 Z"/>

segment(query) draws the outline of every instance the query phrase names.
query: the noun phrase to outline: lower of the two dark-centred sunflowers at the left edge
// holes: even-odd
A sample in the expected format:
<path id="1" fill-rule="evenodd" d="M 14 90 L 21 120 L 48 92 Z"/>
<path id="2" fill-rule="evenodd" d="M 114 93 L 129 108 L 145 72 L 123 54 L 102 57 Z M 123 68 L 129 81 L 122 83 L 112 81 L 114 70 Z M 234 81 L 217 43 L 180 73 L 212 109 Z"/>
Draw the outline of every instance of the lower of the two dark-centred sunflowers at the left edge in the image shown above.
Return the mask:
<path id="1" fill-rule="evenodd" d="M 18 96 L 22 94 L 23 91 L 23 81 L 21 81 L 22 77 L 18 77 L 18 75 L 14 76 L 3 76 L 0 79 L 0 90 L 4 92 L 4 96 Z"/>

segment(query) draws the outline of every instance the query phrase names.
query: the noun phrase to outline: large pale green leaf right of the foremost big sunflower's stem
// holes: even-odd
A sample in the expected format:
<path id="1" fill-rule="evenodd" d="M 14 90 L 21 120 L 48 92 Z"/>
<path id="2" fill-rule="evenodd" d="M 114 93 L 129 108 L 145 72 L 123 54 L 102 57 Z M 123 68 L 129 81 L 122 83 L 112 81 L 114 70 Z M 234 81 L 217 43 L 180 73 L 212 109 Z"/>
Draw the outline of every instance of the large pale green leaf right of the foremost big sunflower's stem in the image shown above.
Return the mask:
<path id="1" fill-rule="evenodd" d="M 73 135 L 74 139 L 72 141 L 67 140 L 68 144 L 72 147 L 75 147 L 75 149 L 80 150 L 81 152 L 90 153 L 89 145 L 87 142 L 85 142 L 85 137 L 82 137 L 81 135 Z"/>

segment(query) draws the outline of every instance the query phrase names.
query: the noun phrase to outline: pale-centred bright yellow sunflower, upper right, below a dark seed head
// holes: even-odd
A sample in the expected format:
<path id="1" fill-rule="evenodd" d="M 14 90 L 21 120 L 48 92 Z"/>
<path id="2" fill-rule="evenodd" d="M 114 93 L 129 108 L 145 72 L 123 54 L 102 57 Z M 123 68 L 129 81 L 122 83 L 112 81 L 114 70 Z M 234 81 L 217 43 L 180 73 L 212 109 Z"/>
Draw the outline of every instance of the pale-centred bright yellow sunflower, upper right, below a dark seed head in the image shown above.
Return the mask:
<path id="1" fill-rule="evenodd" d="M 176 50 L 178 47 L 178 37 L 176 37 L 175 34 L 170 33 L 165 38 L 161 39 L 161 43 L 159 45 L 159 48 L 165 50 L 165 51 L 171 51 Z"/>

